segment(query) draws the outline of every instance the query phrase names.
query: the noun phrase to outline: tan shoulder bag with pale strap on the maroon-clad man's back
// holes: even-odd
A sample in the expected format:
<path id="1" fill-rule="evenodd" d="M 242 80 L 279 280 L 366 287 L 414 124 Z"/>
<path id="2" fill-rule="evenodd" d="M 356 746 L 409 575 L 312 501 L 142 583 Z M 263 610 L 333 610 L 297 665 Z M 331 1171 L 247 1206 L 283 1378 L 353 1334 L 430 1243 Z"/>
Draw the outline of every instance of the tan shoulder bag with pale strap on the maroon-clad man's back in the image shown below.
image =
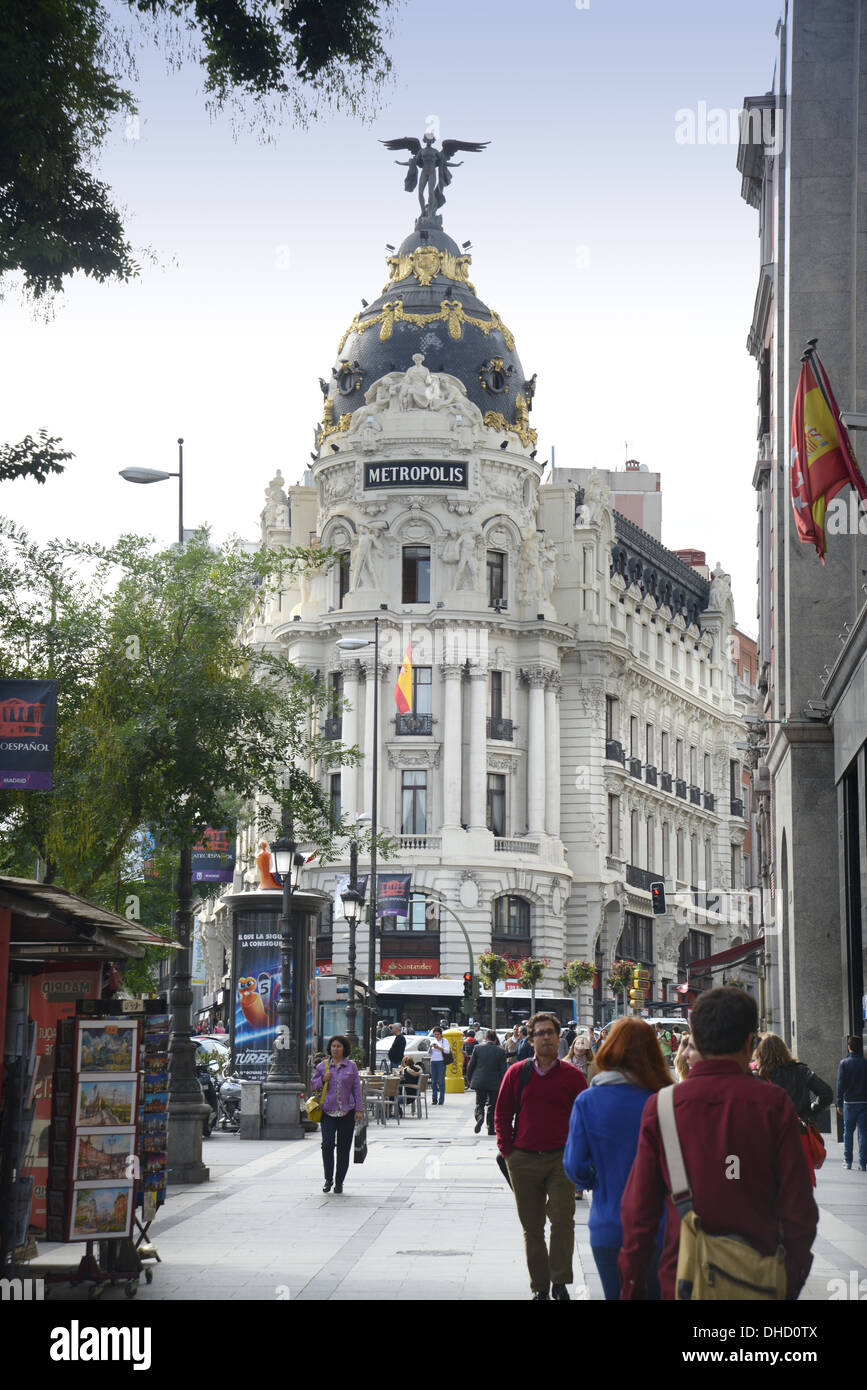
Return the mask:
<path id="1" fill-rule="evenodd" d="M 681 1218 L 675 1300 L 778 1302 L 786 1295 L 785 1250 L 761 1255 L 743 1236 L 709 1236 L 692 1205 L 692 1188 L 674 1118 L 674 1086 L 657 1093 L 657 1115 L 671 1201 Z"/>

